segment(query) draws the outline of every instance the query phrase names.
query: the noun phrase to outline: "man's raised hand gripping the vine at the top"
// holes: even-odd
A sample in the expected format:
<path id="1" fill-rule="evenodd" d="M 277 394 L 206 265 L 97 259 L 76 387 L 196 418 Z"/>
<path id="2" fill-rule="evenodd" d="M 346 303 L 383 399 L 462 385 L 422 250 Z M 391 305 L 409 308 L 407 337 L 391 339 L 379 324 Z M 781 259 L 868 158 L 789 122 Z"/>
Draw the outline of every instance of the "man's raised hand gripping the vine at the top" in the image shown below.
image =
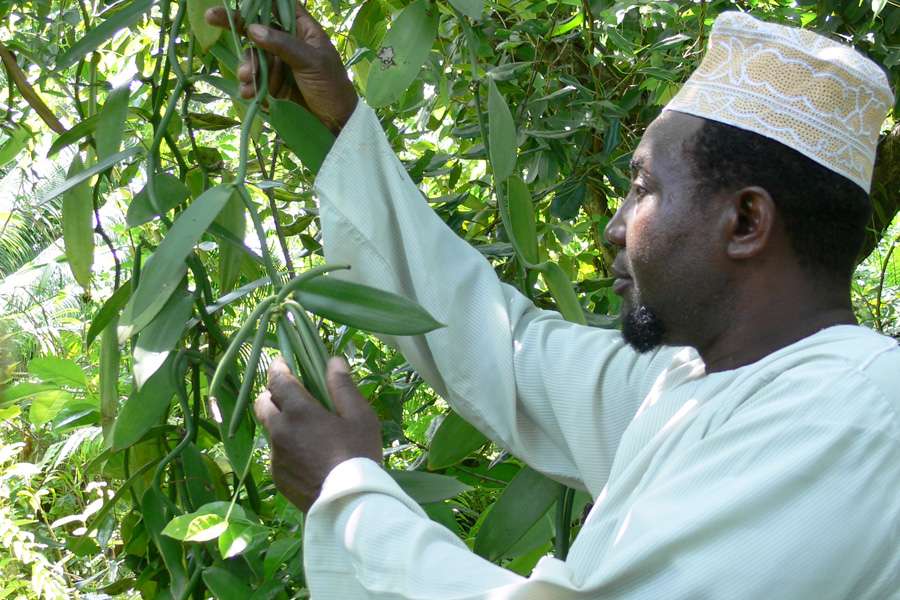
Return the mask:
<path id="1" fill-rule="evenodd" d="M 240 15 L 232 14 L 232 18 L 238 33 L 244 33 Z M 229 27 L 225 7 L 206 11 L 206 21 Z M 270 55 L 270 93 L 302 104 L 331 131 L 339 132 L 356 108 L 356 90 L 328 34 L 306 9 L 297 3 L 295 36 L 257 24 L 247 27 L 246 34 Z M 237 73 L 243 98 L 256 96 L 256 72 L 256 54 L 250 53 Z"/>

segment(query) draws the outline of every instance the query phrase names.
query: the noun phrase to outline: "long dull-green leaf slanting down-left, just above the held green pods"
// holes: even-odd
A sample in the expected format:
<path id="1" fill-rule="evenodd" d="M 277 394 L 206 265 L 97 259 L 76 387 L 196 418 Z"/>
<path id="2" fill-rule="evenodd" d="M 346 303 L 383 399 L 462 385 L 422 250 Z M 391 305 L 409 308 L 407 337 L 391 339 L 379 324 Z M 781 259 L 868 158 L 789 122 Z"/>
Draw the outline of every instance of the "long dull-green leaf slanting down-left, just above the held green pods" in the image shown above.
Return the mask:
<path id="1" fill-rule="evenodd" d="M 141 272 L 141 281 L 119 319 L 124 342 L 150 324 L 187 271 L 185 259 L 231 197 L 232 186 L 210 188 L 184 210 Z"/>

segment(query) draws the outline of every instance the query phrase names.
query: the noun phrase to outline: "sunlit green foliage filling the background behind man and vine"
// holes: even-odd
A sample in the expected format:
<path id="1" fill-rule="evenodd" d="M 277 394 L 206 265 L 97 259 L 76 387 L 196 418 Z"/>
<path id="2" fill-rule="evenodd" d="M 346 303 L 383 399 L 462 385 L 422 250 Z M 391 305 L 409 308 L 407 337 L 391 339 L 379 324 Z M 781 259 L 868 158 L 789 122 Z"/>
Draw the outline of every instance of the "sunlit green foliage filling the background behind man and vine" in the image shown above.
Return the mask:
<path id="1" fill-rule="evenodd" d="M 139 14 L 81 60 L 59 67 L 79 40 L 138 4 L 0 1 L 5 66 L 0 84 L 7 90 L 0 102 L 0 302 L 8 384 L 0 400 L 0 597 L 247 597 L 251 592 L 259 598 L 304 597 L 301 516 L 275 492 L 266 471 L 265 440 L 258 433 L 246 485 L 240 485 L 241 469 L 217 434 L 207 370 L 192 368 L 190 381 L 182 382 L 200 427 L 190 436 L 191 458 L 180 457 L 162 473 L 161 489 L 174 508 L 158 516 L 168 521 L 198 508 L 201 500 L 233 500 L 246 517 L 238 523 L 241 531 L 229 529 L 228 535 L 241 540 L 238 546 L 232 539 L 223 552 L 222 535 L 194 542 L 160 536 L 158 519 L 146 513 L 142 498 L 153 486 L 154 468 L 186 435 L 183 410 L 174 398 L 138 443 L 112 451 L 105 440 L 100 397 L 110 380 L 107 375 L 101 381 L 101 340 L 88 344 L 88 332 L 100 307 L 128 285 L 168 226 L 159 219 L 136 226 L 126 220 L 146 183 L 138 157 L 94 178 L 88 198 L 95 210 L 87 233 L 69 234 L 81 240 L 82 254 L 86 238 L 96 246 L 90 280 L 79 285 L 66 254 L 68 248 L 71 258 L 72 242 L 62 239 L 64 201 L 52 190 L 66 179 L 76 152 L 82 157 L 95 153 L 106 132 L 82 137 L 49 158 L 48 151 L 60 134 L 103 113 L 112 91 L 123 85 L 130 85 L 130 108 L 120 127 L 123 146 L 146 151 L 154 135 L 162 135 L 162 109 L 175 84 L 164 50 L 177 2 L 145 3 L 153 5 L 145 11 L 148 16 Z M 188 8 L 195 12 L 188 16 L 214 4 L 191 0 Z M 403 0 L 309 5 L 364 96 L 388 24 L 404 7 Z M 493 121 L 487 80 L 493 80 L 517 127 L 516 170 L 533 200 L 542 256 L 573 282 L 586 319 L 595 326 L 616 325 L 618 303 L 607 271 L 611 250 L 601 232 L 627 190 L 630 152 L 696 65 L 719 12 L 750 11 L 834 35 L 882 64 L 892 87 L 900 87 L 900 5 L 891 0 L 484 5 L 453 0 L 431 7 L 439 24 L 421 70 L 408 88 L 397 90 L 396 99 L 379 108 L 394 149 L 438 214 L 490 258 L 502 279 L 536 303 L 553 307 L 543 280 L 515 258 L 498 218 L 485 135 Z M 185 182 L 190 198 L 233 176 L 246 111 L 246 103 L 229 96 L 234 77 L 228 36 L 204 51 L 195 35 L 210 33 L 196 21 L 182 24 L 172 50 L 183 69 L 202 77 L 188 96 L 177 99 L 160 155 L 162 171 Z M 405 37 L 412 36 L 407 32 Z M 873 190 L 877 210 L 853 299 L 862 323 L 897 336 L 900 134 L 892 119 L 885 123 Z M 248 182 L 263 219 L 264 243 L 284 272 L 321 264 L 314 173 L 284 147 L 265 119 L 254 125 L 253 138 Z M 179 214 L 190 198 L 169 214 Z M 219 226 L 259 253 L 261 243 L 241 207 L 230 214 L 220 217 Z M 223 241 L 223 235 L 207 232 L 194 250 L 209 281 L 192 271 L 185 288 L 196 300 L 192 318 L 169 352 L 190 348 L 215 363 L 223 348 L 214 329 L 233 333 L 264 291 L 264 285 L 248 286 L 263 278 L 262 267 Z M 226 296 L 235 289 L 236 297 Z M 230 302 L 219 306 L 223 297 Z M 210 327 L 196 317 L 201 306 L 212 305 L 219 310 Z M 451 489 L 447 498 L 429 498 L 425 506 L 435 520 L 477 551 L 522 573 L 544 554 L 564 551 L 560 539 L 568 536 L 561 528 L 577 533 L 588 498 L 575 495 L 568 522 L 558 514 L 556 488 L 546 485 L 543 496 L 533 494 L 541 496 L 536 500 L 510 504 L 511 494 L 492 511 L 508 482 L 521 473 L 520 463 L 452 417 L 444 423 L 443 401 L 377 338 L 325 320 L 319 332 L 330 350 L 350 358 L 378 410 L 387 464 L 398 470 L 430 468 L 467 486 L 458 494 L 462 488 Z M 120 348 L 113 385 L 123 403 L 133 393 L 133 340 Z M 274 349 L 267 350 L 260 368 L 272 355 Z M 501 515 L 520 514 L 532 516 L 512 523 L 518 537 L 485 542 L 482 530 L 492 527 L 486 523 L 493 520 L 496 527 Z M 179 581 L 164 560 L 166 548 L 197 575 L 190 583 Z"/>

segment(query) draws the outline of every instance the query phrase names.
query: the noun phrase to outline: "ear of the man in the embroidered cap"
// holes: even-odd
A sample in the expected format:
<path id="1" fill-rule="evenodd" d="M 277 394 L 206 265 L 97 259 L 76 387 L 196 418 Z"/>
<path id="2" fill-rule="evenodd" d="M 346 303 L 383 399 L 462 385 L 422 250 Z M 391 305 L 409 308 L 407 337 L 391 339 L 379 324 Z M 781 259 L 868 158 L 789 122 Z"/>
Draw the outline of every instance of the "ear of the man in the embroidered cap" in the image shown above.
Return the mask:
<path id="1" fill-rule="evenodd" d="M 775 201 L 765 189 L 738 190 L 726 202 L 725 231 L 729 258 L 742 260 L 759 255 L 769 245 L 775 227 Z"/>

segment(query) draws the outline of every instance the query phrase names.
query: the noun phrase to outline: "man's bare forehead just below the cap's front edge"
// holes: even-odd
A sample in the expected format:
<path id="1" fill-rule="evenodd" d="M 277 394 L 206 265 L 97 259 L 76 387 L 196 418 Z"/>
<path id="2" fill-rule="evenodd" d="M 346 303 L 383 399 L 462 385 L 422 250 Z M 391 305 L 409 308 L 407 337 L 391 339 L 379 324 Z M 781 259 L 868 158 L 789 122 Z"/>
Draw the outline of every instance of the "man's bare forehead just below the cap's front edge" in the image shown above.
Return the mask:
<path id="1" fill-rule="evenodd" d="M 647 127 L 632 164 L 660 178 L 690 174 L 688 152 L 704 121 L 693 115 L 664 111 Z"/>

